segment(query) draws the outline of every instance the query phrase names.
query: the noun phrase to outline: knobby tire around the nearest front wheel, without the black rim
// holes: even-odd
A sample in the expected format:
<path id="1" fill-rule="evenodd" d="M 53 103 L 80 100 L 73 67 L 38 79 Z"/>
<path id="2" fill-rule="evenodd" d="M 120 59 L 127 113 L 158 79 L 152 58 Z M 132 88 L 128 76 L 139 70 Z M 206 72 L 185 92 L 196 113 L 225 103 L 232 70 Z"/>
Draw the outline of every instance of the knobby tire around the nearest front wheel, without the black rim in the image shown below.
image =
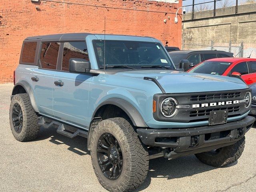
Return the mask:
<path id="1" fill-rule="evenodd" d="M 97 142 L 104 133 L 112 134 L 122 150 L 123 168 L 116 180 L 104 176 L 97 161 Z M 140 141 L 130 122 L 124 118 L 110 118 L 100 122 L 92 133 L 91 158 L 100 184 L 111 192 L 124 192 L 138 188 L 148 173 L 147 147 Z"/>

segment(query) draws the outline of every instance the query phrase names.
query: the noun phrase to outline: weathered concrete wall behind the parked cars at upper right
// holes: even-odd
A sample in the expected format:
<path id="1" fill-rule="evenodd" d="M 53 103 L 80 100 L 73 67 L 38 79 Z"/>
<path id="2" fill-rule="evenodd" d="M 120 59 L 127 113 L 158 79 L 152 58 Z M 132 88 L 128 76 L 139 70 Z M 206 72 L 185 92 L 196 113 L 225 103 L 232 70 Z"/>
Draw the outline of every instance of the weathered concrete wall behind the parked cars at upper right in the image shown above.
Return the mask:
<path id="1" fill-rule="evenodd" d="M 232 46 L 240 46 L 243 41 L 243 56 L 248 57 L 252 52 L 251 57 L 256 58 L 256 4 L 238 6 L 237 14 L 234 6 L 217 9 L 215 18 L 213 18 L 213 10 L 195 12 L 194 19 L 191 18 L 192 13 L 182 17 L 183 49 L 208 50 L 212 40 L 214 49 L 228 51 L 230 41 Z M 231 50 L 235 52 L 235 56 L 238 51 L 239 48 Z"/>

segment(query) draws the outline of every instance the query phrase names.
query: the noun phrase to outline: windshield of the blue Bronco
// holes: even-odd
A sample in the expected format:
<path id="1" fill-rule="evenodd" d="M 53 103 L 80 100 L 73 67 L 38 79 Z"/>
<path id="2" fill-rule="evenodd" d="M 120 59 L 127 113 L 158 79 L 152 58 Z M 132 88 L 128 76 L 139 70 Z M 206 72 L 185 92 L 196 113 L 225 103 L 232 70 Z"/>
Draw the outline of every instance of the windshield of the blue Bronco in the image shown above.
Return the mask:
<path id="1" fill-rule="evenodd" d="M 99 68 L 104 66 L 104 40 L 93 40 Z M 174 69 L 170 57 L 160 43 L 106 40 L 106 69 L 124 67 L 130 69 Z"/>

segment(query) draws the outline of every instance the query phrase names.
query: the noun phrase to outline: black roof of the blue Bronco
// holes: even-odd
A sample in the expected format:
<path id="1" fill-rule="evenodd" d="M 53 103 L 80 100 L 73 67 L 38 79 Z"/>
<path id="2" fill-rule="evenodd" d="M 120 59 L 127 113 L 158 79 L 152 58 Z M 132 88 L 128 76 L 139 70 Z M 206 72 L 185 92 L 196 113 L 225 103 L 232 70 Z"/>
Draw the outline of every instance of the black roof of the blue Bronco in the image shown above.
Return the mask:
<path id="1" fill-rule="evenodd" d="M 51 34 L 51 35 L 41 35 L 27 37 L 25 40 L 41 39 L 41 41 L 83 41 L 88 35 L 103 35 L 103 34 L 91 34 L 91 33 L 62 33 L 62 34 Z M 116 35 L 116 34 L 106 34 L 106 35 Z M 120 35 L 128 36 L 128 35 Z M 131 35 L 129 35 L 131 36 Z M 142 36 L 141 36 L 142 37 Z M 152 38 L 148 36 L 143 36 L 145 38 Z"/>

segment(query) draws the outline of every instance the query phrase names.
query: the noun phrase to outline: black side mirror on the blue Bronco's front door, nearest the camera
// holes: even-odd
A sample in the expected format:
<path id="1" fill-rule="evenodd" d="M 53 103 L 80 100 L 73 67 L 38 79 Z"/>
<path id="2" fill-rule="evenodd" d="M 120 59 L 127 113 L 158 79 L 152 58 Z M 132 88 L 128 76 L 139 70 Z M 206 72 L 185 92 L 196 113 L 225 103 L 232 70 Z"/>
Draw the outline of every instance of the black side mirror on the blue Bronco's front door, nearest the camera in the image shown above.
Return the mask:
<path id="1" fill-rule="evenodd" d="M 69 60 L 69 72 L 71 73 L 89 73 L 91 64 L 85 59 L 71 58 Z"/>

